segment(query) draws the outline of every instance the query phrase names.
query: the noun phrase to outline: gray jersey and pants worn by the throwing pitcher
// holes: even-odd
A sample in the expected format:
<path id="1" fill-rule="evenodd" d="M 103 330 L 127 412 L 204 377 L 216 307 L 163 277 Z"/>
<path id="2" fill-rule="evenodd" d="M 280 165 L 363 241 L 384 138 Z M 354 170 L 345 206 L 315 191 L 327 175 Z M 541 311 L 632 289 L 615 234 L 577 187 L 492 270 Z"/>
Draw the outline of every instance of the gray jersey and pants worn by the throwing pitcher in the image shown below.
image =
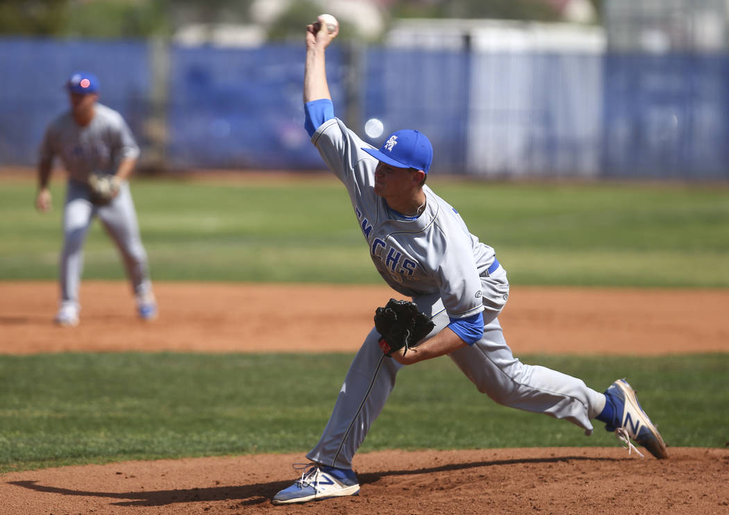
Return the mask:
<path id="1" fill-rule="evenodd" d="M 564 418 L 590 434 L 590 419 L 604 406 L 604 395 L 582 380 L 521 363 L 512 355 L 497 316 L 509 294 L 507 274 L 494 264 L 494 249 L 470 234 L 461 216 L 424 185 L 425 211 L 405 219 L 375 194 L 378 160 L 371 148 L 339 119 L 329 119 L 311 141 L 327 166 L 343 182 L 370 251 L 383 279 L 410 296 L 432 318 L 431 336 L 451 318 L 483 312 L 480 341 L 449 354 L 481 393 L 499 404 Z M 383 355 L 373 328 L 351 363 L 324 433 L 308 459 L 351 468 L 351 461 L 382 411 L 402 365 Z"/>

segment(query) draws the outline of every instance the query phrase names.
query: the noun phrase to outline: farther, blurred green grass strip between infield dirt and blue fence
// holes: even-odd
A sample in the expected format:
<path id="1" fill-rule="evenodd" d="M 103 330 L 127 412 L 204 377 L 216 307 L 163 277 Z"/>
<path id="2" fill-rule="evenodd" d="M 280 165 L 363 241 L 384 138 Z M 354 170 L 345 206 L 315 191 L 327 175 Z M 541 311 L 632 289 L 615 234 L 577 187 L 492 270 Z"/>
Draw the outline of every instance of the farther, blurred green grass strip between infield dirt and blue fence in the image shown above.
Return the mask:
<path id="1" fill-rule="evenodd" d="M 55 211 L 33 208 L 32 181 L 0 189 L 0 280 L 52 279 Z M 729 287 L 729 186 L 492 184 L 432 181 L 469 229 L 496 248 L 515 284 Z M 379 283 L 343 186 L 139 179 L 133 183 L 155 280 Z M 121 279 L 98 223 L 85 278 Z"/>

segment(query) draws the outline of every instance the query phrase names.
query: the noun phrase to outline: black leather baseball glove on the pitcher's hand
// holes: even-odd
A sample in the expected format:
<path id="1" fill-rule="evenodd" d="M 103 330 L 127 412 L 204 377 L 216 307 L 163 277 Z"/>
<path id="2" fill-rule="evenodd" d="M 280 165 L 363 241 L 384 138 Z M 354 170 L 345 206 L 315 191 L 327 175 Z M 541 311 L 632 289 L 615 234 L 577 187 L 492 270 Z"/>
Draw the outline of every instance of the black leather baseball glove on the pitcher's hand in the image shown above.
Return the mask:
<path id="1" fill-rule="evenodd" d="M 375 329 L 381 334 L 380 348 L 391 356 L 405 347 L 415 347 L 435 327 L 428 315 L 418 311 L 415 302 L 390 299 L 375 310 Z"/>

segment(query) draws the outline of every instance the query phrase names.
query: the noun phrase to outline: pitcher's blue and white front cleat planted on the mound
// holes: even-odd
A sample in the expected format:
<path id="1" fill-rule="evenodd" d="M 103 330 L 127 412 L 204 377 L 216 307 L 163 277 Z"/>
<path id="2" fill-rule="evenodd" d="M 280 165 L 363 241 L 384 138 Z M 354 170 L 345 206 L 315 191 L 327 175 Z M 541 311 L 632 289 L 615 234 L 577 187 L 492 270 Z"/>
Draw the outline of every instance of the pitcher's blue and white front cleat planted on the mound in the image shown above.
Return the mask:
<path id="1" fill-rule="evenodd" d="M 358 495 L 359 483 L 351 468 L 334 468 L 318 463 L 309 467 L 290 487 L 273 496 L 273 504 L 305 503 L 346 495 Z M 302 468 L 294 465 L 294 468 Z"/>

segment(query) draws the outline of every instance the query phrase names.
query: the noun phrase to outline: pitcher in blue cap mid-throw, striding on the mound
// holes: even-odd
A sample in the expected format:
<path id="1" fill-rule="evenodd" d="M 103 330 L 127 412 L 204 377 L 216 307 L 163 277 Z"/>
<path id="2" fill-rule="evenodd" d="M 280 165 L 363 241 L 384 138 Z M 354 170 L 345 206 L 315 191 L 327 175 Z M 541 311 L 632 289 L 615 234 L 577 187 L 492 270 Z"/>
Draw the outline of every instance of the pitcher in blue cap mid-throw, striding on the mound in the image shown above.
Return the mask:
<path id="1" fill-rule="evenodd" d="M 305 127 L 346 186 L 378 272 L 413 302 L 401 309 L 391 301 L 375 311 L 375 328 L 351 363 L 321 439 L 306 456 L 312 463 L 301 467 L 300 479 L 273 503 L 356 495 L 352 458 L 385 406 L 397 372 L 443 355 L 499 404 L 569 420 L 587 434 L 591 420 L 600 420 L 628 449 L 637 451 L 633 439 L 655 457 L 667 457 L 666 444 L 625 380 L 600 393 L 576 377 L 512 355 L 497 318 L 509 282 L 494 248 L 472 235 L 459 213 L 424 184 L 433 157 L 424 134 L 399 130 L 375 149 L 334 117 L 324 49 L 337 31 L 319 26 L 321 18 L 306 33 Z"/>

